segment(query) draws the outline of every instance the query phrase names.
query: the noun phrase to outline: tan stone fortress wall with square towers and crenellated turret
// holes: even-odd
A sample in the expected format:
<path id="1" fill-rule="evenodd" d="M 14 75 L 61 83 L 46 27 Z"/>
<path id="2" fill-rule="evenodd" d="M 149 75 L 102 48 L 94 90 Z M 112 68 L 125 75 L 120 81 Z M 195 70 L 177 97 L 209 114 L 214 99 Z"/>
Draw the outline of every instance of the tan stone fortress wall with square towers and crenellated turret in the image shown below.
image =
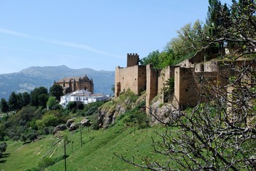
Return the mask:
<path id="1" fill-rule="evenodd" d="M 173 105 L 171 110 L 182 110 L 205 102 L 203 85 L 226 86 L 233 74 L 226 65 L 229 62 L 217 61 L 213 57 L 205 61 L 203 53 L 162 70 L 155 70 L 150 65 L 139 66 L 138 60 L 137 53 L 130 53 L 127 55 L 127 68 L 116 67 L 115 96 L 128 89 L 136 94 L 145 90 L 147 113 L 156 95 L 165 103 L 163 90 L 169 79 L 174 79 L 173 96 L 168 101 Z M 241 66 L 242 62 L 236 61 L 235 64 Z"/>

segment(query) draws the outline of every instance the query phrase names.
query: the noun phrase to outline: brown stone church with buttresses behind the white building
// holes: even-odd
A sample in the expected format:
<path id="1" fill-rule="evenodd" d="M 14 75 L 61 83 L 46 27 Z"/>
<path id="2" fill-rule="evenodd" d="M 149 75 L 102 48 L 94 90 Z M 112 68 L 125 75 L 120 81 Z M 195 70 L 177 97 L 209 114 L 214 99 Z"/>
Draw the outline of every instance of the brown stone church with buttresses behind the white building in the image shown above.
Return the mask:
<path id="1" fill-rule="evenodd" d="M 68 94 L 76 90 L 87 90 L 93 93 L 93 79 L 88 76 L 68 77 L 56 81 L 55 84 L 63 87 L 63 93 Z"/>

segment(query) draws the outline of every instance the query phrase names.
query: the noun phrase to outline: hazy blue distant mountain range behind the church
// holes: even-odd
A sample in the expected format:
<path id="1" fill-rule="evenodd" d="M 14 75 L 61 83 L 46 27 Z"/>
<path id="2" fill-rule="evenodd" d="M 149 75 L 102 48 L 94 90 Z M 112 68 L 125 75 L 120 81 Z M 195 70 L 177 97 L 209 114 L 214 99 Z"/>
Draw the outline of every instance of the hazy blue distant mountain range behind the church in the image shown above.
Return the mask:
<path id="1" fill-rule="evenodd" d="M 39 86 L 49 89 L 54 81 L 61 78 L 84 75 L 93 79 L 94 93 L 111 93 L 111 87 L 115 81 L 114 71 L 95 71 L 90 68 L 71 69 L 67 66 L 32 66 L 19 73 L 0 74 L 0 98 L 8 99 L 12 91 L 30 92 Z"/>

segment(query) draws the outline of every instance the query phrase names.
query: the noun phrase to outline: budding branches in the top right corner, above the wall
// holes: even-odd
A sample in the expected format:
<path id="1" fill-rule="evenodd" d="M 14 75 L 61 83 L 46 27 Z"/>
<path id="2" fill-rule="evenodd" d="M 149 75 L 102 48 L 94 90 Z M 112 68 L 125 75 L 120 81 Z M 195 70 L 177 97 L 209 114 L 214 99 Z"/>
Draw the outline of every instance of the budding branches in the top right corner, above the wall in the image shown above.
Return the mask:
<path id="1" fill-rule="evenodd" d="M 226 43 L 228 47 L 232 48 L 232 52 L 245 54 L 255 53 L 252 49 L 255 49 L 256 43 L 256 16 L 255 16 L 255 1 L 253 0 L 240 0 L 232 1 L 231 9 L 227 8 L 227 5 L 220 6 L 219 10 L 216 10 L 217 17 L 214 20 L 218 23 L 214 26 L 217 29 L 216 35 L 209 31 L 201 30 L 203 35 L 199 41 L 208 42 L 205 48 L 213 46 L 216 43 Z M 216 24 L 215 24 L 216 25 Z M 208 17 L 208 28 L 210 28 L 210 19 Z M 213 30 L 210 28 L 210 30 Z"/>

